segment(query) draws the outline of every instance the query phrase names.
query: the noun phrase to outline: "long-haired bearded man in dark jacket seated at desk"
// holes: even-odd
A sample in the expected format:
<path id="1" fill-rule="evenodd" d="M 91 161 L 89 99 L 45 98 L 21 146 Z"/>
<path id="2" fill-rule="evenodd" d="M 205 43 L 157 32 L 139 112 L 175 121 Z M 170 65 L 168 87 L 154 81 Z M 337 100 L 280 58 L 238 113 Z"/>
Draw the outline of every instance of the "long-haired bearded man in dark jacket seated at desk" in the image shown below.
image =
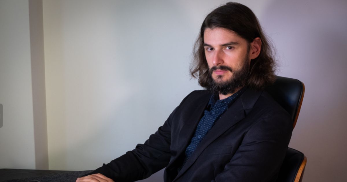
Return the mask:
<path id="1" fill-rule="evenodd" d="M 253 12 L 213 10 L 195 46 L 193 77 L 206 90 L 186 96 L 144 144 L 76 181 L 136 181 L 166 167 L 165 182 L 276 181 L 292 123 L 262 89 L 274 61 Z"/>

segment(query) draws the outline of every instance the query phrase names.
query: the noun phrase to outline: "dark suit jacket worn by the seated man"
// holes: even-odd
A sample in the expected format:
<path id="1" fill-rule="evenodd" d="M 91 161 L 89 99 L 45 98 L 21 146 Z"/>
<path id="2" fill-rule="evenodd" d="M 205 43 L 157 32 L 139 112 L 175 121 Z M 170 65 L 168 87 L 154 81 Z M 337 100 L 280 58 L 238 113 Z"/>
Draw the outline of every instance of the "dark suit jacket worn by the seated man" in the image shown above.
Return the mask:
<path id="1" fill-rule="evenodd" d="M 268 93 L 251 89 L 221 115 L 177 172 L 210 96 L 207 90 L 192 92 L 144 144 L 92 173 L 136 181 L 166 167 L 164 182 L 275 181 L 293 124 Z"/>

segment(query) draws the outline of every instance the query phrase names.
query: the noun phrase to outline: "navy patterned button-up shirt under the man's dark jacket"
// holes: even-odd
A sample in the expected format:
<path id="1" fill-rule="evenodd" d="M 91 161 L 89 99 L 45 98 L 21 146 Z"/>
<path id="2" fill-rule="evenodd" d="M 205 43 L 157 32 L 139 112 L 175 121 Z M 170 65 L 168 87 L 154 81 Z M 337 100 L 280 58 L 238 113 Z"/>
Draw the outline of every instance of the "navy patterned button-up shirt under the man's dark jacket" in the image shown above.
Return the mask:
<path id="1" fill-rule="evenodd" d="M 191 140 L 191 143 L 188 145 L 185 151 L 185 158 L 183 165 L 187 162 L 190 156 L 192 156 L 197 145 L 205 137 L 207 132 L 212 128 L 214 123 L 220 118 L 220 116 L 228 109 L 228 107 L 234 103 L 234 101 L 245 91 L 245 87 L 240 89 L 235 94 L 232 94 L 230 97 L 219 100 L 218 95 L 212 94 L 209 104 L 207 105 L 204 116 L 199 121 L 194 136 Z M 182 167 L 183 167 L 182 165 Z M 181 168 L 179 168 L 180 170 Z"/>

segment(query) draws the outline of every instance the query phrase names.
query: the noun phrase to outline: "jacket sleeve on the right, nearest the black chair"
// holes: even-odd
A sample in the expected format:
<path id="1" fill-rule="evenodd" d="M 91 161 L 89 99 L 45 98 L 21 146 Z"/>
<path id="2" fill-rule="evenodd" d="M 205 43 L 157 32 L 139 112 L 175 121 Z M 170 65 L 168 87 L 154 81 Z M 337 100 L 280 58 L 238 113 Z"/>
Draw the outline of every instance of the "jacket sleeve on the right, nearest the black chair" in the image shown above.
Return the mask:
<path id="1" fill-rule="evenodd" d="M 212 182 L 266 182 L 277 178 L 293 126 L 287 115 L 272 113 L 245 133 L 242 144 Z"/>

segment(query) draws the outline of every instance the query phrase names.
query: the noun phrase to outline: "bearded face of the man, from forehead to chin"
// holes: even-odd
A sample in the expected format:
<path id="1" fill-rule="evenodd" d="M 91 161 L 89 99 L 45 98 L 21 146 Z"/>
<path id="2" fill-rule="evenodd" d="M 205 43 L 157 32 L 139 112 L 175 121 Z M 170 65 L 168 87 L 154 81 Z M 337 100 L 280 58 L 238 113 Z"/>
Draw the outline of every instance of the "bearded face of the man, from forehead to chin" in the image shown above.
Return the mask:
<path id="1" fill-rule="evenodd" d="M 231 94 L 244 86 L 249 75 L 249 43 L 225 28 L 206 28 L 204 49 L 212 90 L 223 95 Z"/>

